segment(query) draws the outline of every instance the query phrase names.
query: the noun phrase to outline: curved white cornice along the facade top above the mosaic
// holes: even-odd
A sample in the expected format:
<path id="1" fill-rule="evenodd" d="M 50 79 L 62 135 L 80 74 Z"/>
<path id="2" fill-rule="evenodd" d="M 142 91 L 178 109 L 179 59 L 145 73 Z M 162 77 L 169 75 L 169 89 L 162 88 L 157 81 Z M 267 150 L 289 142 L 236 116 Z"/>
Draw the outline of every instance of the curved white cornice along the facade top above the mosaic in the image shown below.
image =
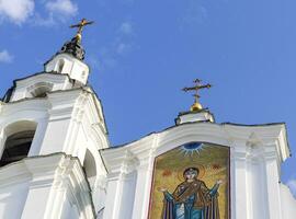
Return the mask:
<path id="1" fill-rule="evenodd" d="M 248 147 L 257 145 L 260 147 L 271 147 L 275 150 L 277 143 L 277 155 L 282 162 L 288 155 L 288 146 L 286 141 L 285 124 L 267 125 L 234 125 L 234 124 L 213 124 L 213 123 L 187 123 L 170 127 L 160 132 L 153 132 L 140 138 L 137 141 L 101 150 L 102 158 L 107 170 L 113 169 L 122 162 L 124 152 L 132 151 L 137 158 L 146 159 L 151 150 L 156 154 L 162 153 L 170 147 L 178 147 L 187 140 L 200 140 L 203 142 L 215 143 L 227 147 Z M 157 145 L 153 148 L 153 140 Z M 239 142 L 239 145 L 237 145 Z M 164 148 L 163 148 L 164 147 Z M 246 155 L 246 151 L 243 152 Z M 269 153 L 271 153 L 269 151 Z M 146 154 L 143 157 L 141 154 Z M 271 154 L 269 154 L 270 157 Z"/>

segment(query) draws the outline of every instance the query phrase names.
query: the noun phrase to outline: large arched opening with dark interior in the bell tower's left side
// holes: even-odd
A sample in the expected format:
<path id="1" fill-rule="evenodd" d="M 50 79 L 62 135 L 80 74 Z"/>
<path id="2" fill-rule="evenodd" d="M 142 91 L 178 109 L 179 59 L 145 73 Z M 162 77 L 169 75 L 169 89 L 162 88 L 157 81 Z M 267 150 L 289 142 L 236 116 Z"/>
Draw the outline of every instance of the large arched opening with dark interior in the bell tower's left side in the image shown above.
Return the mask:
<path id="1" fill-rule="evenodd" d="M 22 120 L 9 125 L 4 129 L 5 142 L 0 160 L 0 166 L 22 160 L 27 157 L 37 124 Z"/>

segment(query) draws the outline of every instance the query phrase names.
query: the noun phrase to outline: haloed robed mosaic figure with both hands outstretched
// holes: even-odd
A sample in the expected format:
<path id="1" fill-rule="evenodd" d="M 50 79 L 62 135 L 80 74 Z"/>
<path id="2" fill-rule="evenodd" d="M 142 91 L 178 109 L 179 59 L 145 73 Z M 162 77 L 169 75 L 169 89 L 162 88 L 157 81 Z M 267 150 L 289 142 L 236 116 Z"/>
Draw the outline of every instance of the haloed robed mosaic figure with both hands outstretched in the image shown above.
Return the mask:
<path id="1" fill-rule="evenodd" d="M 200 170 L 189 168 L 183 172 L 184 182 L 179 184 L 171 194 L 167 188 L 159 188 L 163 193 L 163 208 L 161 219 L 219 219 L 218 188 L 221 180 L 209 189 L 206 184 L 197 180 Z"/>

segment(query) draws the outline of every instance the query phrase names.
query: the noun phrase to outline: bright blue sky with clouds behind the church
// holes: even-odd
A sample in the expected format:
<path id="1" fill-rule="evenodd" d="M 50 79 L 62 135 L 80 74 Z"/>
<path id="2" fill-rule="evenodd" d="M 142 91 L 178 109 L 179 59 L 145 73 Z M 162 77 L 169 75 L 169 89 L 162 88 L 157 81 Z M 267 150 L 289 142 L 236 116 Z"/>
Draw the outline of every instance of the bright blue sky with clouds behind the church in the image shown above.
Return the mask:
<path id="1" fill-rule="evenodd" d="M 0 93 L 43 70 L 81 18 L 89 82 L 121 145 L 173 125 L 195 78 L 217 123 L 285 122 L 296 154 L 295 0 L 0 0 Z M 282 180 L 296 191 L 296 159 Z M 296 193 L 295 193 L 296 194 Z"/>

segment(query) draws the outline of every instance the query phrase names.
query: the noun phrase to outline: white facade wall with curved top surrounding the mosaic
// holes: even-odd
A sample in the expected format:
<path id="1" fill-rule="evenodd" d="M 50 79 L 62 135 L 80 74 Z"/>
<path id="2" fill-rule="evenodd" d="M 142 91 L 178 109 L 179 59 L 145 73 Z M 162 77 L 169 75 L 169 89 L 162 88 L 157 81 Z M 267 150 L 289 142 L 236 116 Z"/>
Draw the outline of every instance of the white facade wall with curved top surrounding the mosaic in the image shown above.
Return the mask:
<path id="1" fill-rule="evenodd" d="M 292 209 L 296 205 L 286 196 L 282 197 L 278 185 L 280 164 L 289 155 L 284 124 L 236 126 L 191 123 L 149 135 L 125 147 L 101 151 L 109 171 L 104 219 L 147 219 L 155 158 L 192 141 L 230 148 L 232 219 L 291 218 L 283 214 L 294 212 Z M 137 172 L 136 182 L 124 181 L 127 170 Z M 130 201 L 126 191 L 134 189 L 135 199 Z M 285 200 L 281 201 L 281 197 Z M 285 201 L 291 204 L 285 206 L 287 209 L 283 208 Z M 123 209 L 128 211 L 126 216 L 121 214 L 125 214 Z"/>

